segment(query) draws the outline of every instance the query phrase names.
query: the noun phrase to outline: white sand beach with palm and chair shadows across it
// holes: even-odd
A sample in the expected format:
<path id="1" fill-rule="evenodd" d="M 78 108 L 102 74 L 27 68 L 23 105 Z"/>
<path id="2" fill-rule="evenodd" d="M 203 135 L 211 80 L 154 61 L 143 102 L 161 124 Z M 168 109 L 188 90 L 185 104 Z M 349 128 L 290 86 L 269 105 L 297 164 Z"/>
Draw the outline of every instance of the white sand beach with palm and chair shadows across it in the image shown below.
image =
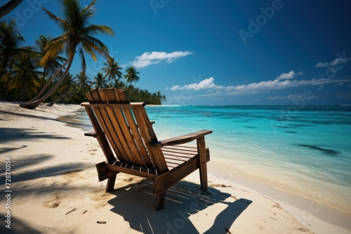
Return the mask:
<path id="1" fill-rule="evenodd" d="M 81 109 L 0 102 L 1 233 L 351 233 L 350 213 L 228 174 L 213 156 L 208 193 L 194 172 L 159 212 L 150 180 L 118 174 L 105 193 L 95 170 L 105 157 L 74 121 Z"/>

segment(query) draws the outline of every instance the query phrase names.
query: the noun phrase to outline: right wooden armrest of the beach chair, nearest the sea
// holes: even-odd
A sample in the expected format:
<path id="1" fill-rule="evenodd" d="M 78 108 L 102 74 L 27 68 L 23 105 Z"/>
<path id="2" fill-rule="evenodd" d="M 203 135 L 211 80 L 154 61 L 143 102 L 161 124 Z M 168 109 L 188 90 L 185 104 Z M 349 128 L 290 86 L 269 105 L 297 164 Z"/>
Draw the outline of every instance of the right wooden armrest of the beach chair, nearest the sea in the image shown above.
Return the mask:
<path id="1" fill-rule="evenodd" d="M 160 142 L 150 142 L 149 145 L 152 147 L 163 147 L 163 146 L 173 146 L 176 144 L 185 144 L 188 142 L 192 142 L 195 139 L 198 139 L 200 137 L 204 137 L 204 135 L 208 135 L 211 134 L 212 130 L 201 130 L 199 132 L 194 132 L 194 133 L 190 133 L 187 135 L 183 135 L 180 137 L 173 137 L 170 139 L 165 139 L 163 141 Z"/>

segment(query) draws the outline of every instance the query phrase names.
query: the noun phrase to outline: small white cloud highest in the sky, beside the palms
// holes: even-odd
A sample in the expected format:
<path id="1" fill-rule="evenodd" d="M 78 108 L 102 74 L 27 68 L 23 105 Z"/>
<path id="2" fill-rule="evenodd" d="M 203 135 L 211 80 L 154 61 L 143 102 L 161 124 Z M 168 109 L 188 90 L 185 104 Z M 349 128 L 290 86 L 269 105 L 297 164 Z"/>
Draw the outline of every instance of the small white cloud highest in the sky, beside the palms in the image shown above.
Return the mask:
<path id="1" fill-rule="evenodd" d="M 172 53 L 166 52 L 145 52 L 143 55 L 135 57 L 135 60 L 132 62 L 134 67 L 147 67 L 151 64 L 157 64 L 160 62 L 171 63 L 177 60 L 180 57 L 185 57 L 191 55 L 190 51 L 174 51 Z"/>

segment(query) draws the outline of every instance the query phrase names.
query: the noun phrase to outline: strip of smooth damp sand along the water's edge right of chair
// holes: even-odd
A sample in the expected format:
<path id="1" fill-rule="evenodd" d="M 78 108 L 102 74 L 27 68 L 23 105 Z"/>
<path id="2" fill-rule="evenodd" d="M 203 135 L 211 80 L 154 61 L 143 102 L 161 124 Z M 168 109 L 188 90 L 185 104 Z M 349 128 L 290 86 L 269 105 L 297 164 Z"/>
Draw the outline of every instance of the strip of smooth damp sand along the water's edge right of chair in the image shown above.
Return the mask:
<path id="1" fill-rule="evenodd" d="M 331 233 L 332 231 L 336 231 L 338 227 L 341 227 L 351 233 L 351 224 L 349 222 L 351 218 L 350 210 L 347 212 L 346 209 L 338 209 L 338 207 L 326 203 L 325 200 L 319 198 L 313 199 L 307 195 L 301 195 L 297 190 L 294 191 L 293 188 L 289 189 L 289 191 L 280 189 L 278 186 L 270 183 L 272 180 L 249 174 L 233 165 L 229 166 L 231 170 L 237 170 L 235 177 L 226 177 L 223 179 L 223 174 L 228 175 L 227 170 L 224 169 L 228 165 L 224 165 L 223 162 L 218 162 L 218 160 L 211 160 L 212 170 L 210 170 L 210 173 L 213 174 L 214 178 L 216 178 L 215 181 L 218 183 L 223 183 L 224 181 L 225 184 L 235 188 L 258 193 L 273 199 L 279 205 L 282 205 L 286 211 L 293 214 L 300 223 L 310 227 L 314 232 Z M 324 226 L 324 221 L 330 223 L 331 226 Z M 339 231 L 343 233 L 342 229 Z"/>

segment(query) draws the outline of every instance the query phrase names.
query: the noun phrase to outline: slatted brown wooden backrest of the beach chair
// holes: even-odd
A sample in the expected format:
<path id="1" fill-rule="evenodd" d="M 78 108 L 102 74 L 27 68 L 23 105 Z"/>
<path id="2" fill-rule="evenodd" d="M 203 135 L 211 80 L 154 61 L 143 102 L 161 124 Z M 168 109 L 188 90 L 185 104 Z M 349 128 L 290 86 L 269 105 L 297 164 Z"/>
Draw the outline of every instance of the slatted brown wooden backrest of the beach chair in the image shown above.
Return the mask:
<path id="1" fill-rule="evenodd" d="M 102 129 L 120 162 L 159 172 L 168 170 L 161 149 L 147 144 L 157 142 L 157 137 L 143 102 L 128 102 L 124 90 L 117 88 L 91 90 L 86 97 L 86 108 L 93 110 L 90 114 L 87 111 L 95 132 Z"/>

